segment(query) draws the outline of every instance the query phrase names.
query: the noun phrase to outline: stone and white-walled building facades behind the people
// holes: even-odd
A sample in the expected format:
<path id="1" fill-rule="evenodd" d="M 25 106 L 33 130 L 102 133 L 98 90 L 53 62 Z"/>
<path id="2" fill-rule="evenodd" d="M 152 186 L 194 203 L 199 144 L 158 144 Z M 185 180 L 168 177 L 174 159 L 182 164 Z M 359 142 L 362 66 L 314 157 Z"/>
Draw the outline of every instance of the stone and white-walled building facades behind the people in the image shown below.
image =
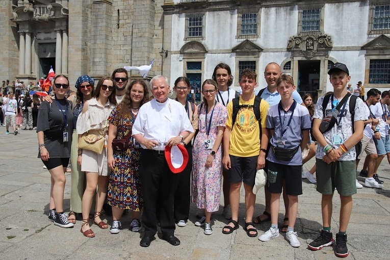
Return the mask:
<path id="1" fill-rule="evenodd" d="M 384 0 L 1 1 L 0 76 L 36 81 L 51 65 L 72 84 L 81 74 L 97 79 L 155 59 L 149 79 L 164 74 L 173 84 L 186 75 L 199 88 L 225 62 L 234 88 L 249 67 L 260 89 L 265 66 L 277 62 L 302 95 L 316 97 L 331 89 L 328 67 L 343 62 L 353 85 L 384 90 L 390 88 L 389 9 Z"/>

